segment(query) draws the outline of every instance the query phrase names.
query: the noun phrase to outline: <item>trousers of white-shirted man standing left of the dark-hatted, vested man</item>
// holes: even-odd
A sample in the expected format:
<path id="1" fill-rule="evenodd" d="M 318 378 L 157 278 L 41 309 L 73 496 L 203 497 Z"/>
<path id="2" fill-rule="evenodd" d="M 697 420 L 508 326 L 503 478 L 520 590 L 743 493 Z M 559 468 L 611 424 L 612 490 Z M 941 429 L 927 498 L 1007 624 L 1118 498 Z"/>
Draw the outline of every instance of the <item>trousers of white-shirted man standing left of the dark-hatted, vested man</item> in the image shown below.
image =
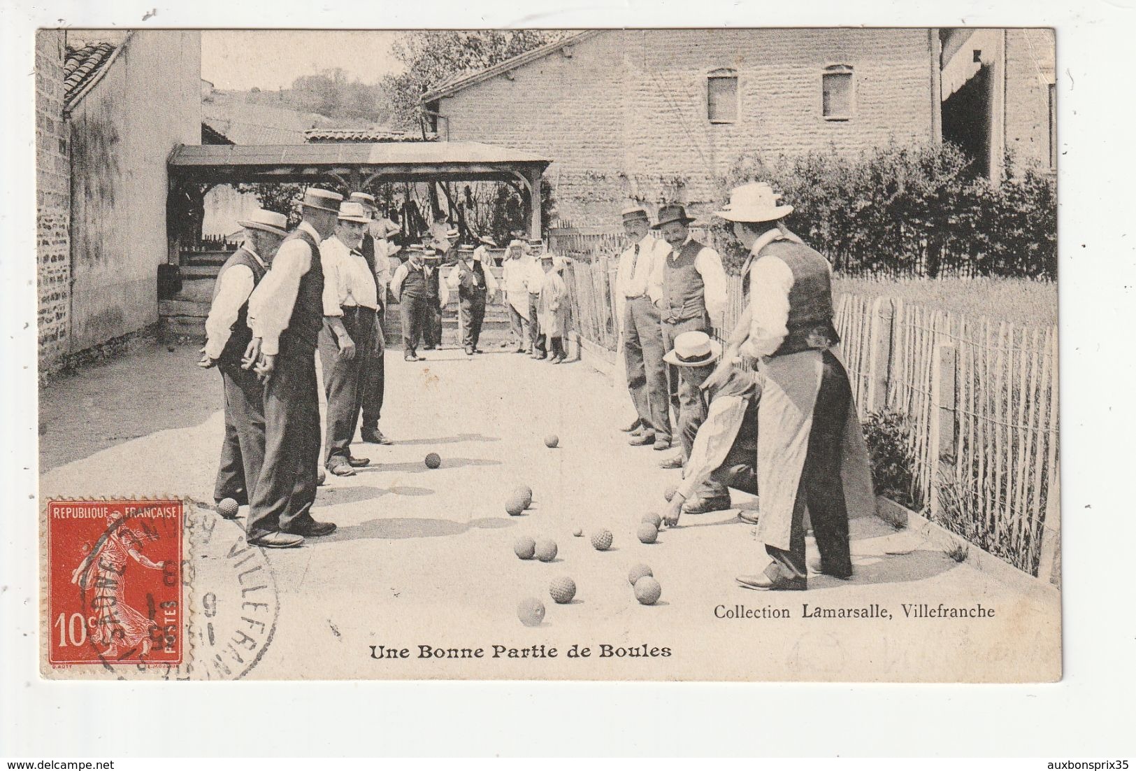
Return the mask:
<path id="1" fill-rule="evenodd" d="M 670 439 L 670 397 L 667 387 L 667 348 L 662 341 L 659 308 L 649 297 L 627 300 L 624 307 L 624 359 L 627 390 L 635 413 L 655 439 Z"/>

